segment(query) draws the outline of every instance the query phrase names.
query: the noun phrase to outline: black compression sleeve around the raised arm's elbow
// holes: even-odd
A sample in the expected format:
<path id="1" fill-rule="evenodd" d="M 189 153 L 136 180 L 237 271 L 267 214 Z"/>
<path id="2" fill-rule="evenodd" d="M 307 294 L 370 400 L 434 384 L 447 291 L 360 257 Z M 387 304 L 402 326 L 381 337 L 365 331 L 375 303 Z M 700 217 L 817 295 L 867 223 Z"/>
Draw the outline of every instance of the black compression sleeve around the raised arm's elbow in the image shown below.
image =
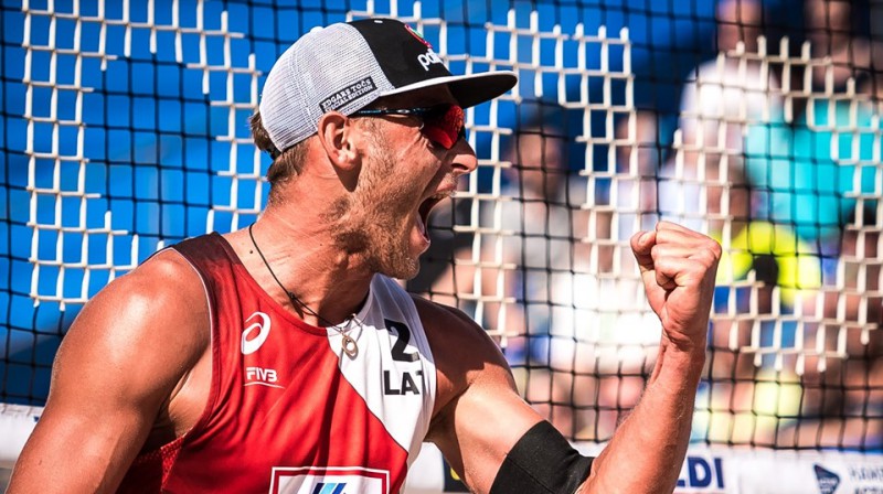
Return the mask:
<path id="1" fill-rule="evenodd" d="M 543 420 L 506 455 L 490 494 L 572 494 L 588 477 L 593 460 Z"/>

